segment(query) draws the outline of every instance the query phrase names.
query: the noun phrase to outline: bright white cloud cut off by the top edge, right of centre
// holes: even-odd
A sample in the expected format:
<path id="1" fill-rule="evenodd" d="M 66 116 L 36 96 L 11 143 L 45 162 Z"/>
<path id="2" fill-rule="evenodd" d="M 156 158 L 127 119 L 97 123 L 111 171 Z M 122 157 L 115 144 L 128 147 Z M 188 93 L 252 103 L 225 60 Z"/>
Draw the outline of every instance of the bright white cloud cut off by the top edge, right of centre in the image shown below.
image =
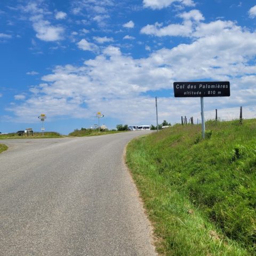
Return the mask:
<path id="1" fill-rule="evenodd" d="M 193 0 L 143 0 L 143 5 L 144 7 L 149 7 L 151 9 L 162 9 L 177 2 L 185 6 L 195 6 Z"/>

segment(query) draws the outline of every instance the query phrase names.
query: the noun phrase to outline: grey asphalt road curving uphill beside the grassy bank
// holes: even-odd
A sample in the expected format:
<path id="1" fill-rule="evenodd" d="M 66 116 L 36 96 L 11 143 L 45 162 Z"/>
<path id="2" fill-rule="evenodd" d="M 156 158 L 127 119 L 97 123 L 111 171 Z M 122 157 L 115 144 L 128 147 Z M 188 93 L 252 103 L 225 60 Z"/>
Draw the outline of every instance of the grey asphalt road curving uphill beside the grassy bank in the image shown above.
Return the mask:
<path id="1" fill-rule="evenodd" d="M 4 140 L 0 255 L 156 255 L 123 160 L 142 133 Z"/>

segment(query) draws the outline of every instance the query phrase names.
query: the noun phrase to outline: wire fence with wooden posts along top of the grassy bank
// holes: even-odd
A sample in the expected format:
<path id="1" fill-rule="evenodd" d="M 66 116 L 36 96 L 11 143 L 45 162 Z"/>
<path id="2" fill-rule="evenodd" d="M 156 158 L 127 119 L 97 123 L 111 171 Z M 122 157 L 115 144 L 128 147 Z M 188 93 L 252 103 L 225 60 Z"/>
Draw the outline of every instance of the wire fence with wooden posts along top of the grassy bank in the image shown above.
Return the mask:
<path id="1" fill-rule="evenodd" d="M 214 109 L 204 112 L 205 121 L 233 121 L 237 119 L 252 119 L 256 118 L 256 106 L 241 106 L 227 109 Z M 199 124 L 201 123 L 201 113 L 195 116 L 181 117 L 181 124 Z"/>

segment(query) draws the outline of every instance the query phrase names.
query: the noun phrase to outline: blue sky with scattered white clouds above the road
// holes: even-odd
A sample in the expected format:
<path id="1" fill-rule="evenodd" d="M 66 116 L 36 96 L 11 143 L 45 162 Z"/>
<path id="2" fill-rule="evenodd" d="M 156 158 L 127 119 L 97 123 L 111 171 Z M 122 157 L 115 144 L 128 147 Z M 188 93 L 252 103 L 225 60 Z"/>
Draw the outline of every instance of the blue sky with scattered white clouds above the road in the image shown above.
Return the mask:
<path id="1" fill-rule="evenodd" d="M 155 97 L 159 122 L 199 117 L 175 81 L 230 81 L 206 114 L 254 116 L 255 25 L 252 0 L 1 1 L 0 131 L 155 124 Z"/>

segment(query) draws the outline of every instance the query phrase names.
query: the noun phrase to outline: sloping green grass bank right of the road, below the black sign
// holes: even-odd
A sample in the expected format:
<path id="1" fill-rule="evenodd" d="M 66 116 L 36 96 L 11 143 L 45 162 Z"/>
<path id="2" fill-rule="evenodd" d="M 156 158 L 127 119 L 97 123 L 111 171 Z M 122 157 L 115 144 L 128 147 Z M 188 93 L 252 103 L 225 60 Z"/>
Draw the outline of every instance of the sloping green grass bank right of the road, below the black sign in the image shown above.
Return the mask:
<path id="1" fill-rule="evenodd" d="M 256 255 L 256 120 L 175 125 L 127 163 L 165 255 Z"/>

